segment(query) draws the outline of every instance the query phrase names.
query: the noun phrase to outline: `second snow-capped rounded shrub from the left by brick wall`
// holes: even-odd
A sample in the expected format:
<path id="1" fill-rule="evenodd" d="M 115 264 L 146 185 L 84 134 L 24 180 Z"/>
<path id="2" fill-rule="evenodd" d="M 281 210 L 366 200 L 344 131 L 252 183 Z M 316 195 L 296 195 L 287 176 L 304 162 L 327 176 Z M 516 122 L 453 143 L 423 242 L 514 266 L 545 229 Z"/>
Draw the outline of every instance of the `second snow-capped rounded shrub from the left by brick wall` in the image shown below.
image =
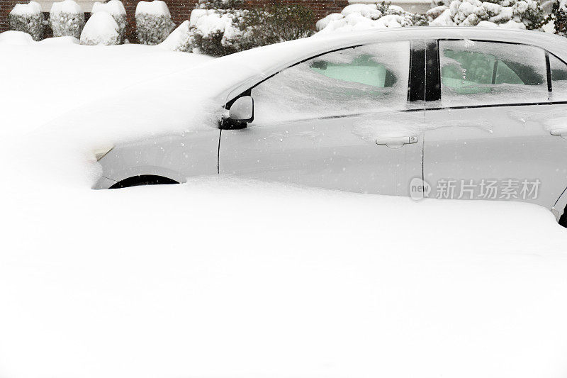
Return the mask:
<path id="1" fill-rule="evenodd" d="M 80 38 L 84 27 L 84 13 L 73 0 L 63 0 L 51 6 L 49 22 L 54 37 L 70 35 Z"/>

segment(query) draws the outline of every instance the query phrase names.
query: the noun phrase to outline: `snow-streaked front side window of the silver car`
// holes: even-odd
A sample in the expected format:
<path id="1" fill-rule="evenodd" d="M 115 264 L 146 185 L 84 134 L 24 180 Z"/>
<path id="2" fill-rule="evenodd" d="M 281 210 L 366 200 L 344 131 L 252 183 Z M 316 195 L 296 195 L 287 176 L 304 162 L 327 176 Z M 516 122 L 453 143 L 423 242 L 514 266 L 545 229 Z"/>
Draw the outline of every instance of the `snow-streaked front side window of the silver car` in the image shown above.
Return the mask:
<path id="1" fill-rule="evenodd" d="M 409 65 L 409 41 L 314 57 L 252 88 L 253 124 L 403 109 Z"/>

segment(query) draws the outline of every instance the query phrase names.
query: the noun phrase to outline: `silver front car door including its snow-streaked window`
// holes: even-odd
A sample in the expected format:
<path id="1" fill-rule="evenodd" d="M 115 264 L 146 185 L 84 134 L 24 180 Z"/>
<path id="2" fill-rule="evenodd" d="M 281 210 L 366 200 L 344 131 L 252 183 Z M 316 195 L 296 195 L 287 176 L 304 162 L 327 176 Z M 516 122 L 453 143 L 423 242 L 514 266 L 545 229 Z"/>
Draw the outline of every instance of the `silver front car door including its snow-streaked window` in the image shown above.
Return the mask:
<path id="1" fill-rule="evenodd" d="M 252 87 L 254 120 L 247 128 L 222 130 L 219 172 L 408 194 L 410 179 L 422 177 L 422 61 L 414 65 L 422 73 L 413 75 L 408 91 L 410 57 L 415 52 L 418 60 L 420 51 L 422 59 L 422 41 L 345 48 Z"/>

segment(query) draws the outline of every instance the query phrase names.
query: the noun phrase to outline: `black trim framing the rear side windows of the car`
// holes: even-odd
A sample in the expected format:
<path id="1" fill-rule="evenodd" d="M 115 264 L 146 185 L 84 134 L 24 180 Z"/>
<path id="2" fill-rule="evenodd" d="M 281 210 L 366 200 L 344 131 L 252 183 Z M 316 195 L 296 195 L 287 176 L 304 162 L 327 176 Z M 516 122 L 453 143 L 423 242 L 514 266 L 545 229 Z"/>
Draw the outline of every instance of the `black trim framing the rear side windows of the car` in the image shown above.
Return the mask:
<path id="1" fill-rule="evenodd" d="M 564 65 L 567 65 L 567 62 L 565 62 L 565 60 L 561 59 L 560 57 L 558 57 L 557 55 L 555 55 L 553 52 L 546 50 L 545 48 L 542 48 L 541 46 L 538 45 L 532 45 L 530 43 L 518 43 L 518 42 L 510 42 L 510 41 L 500 41 L 500 40 L 483 40 L 483 39 L 474 39 L 474 38 L 436 38 L 435 39 L 435 43 L 434 45 L 436 45 L 437 47 L 437 70 L 439 71 L 439 76 L 437 77 L 437 82 L 434 82 L 435 85 L 437 84 L 439 86 L 439 97 L 434 97 L 433 99 L 426 99 L 426 103 L 427 101 L 440 101 L 441 100 L 441 60 L 439 59 L 439 55 L 441 53 L 441 49 L 439 48 L 439 41 L 441 40 L 472 40 L 473 42 L 488 42 L 488 43 L 502 43 L 505 45 L 522 45 L 522 46 L 531 46 L 532 48 L 539 48 L 541 50 L 544 50 L 545 53 L 545 62 L 546 62 L 546 81 L 547 81 L 547 91 L 549 93 L 548 96 L 548 101 L 546 102 L 532 102 L 532 103 L 519 103 L 519 104 L 485 104 L 485 105 L 464 105 L 464 106 L 439 106 L 436 108 L 429 108 L 426 110 L 440 110 L 440 109 L 469 109 L 469 108 L 487 108 L 487 107 L 499 107 L 499 106 L 529 106 L 529 105 L 544 105 L 544 104 L 567 104 L 567 101 L 551 101 L 551 93 L 553 91 L 553 84 L 551 82 L 551 65 L 549 62 L 549 55 L 553 55 L 554 57 L 556 57 L 556 59 L 558 59 L 560 62 L 562 62 Z M 427 41 L 426 41 L 427 43 Z M 432 43 L 433 44 L 433 43 Z M 426 70 L 427 67 L 429 67 L 430 65 L 426 65 Z M 427 72 L 426 72 L 427 74 Z M 426 82 L 426 88 L 427 91 L 431 91 L 430 84 L 428 84 Z"/>

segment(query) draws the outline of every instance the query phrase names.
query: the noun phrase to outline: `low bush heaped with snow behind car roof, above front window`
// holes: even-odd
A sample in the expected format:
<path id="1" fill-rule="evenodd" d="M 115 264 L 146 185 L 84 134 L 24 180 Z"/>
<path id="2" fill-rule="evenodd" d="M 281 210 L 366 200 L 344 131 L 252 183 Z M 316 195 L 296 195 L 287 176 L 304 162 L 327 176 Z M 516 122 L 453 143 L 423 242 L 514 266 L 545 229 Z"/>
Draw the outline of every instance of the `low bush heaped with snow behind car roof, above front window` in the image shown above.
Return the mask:
<path id="1" fill-rule="evenodd" d="M 331 13 L 315 24 L 319 33 L 424 26 L 427 18 L 419 13 L 404 11 L 400 6 L 386 3 L 351 4 L 341 13 Z"/>

